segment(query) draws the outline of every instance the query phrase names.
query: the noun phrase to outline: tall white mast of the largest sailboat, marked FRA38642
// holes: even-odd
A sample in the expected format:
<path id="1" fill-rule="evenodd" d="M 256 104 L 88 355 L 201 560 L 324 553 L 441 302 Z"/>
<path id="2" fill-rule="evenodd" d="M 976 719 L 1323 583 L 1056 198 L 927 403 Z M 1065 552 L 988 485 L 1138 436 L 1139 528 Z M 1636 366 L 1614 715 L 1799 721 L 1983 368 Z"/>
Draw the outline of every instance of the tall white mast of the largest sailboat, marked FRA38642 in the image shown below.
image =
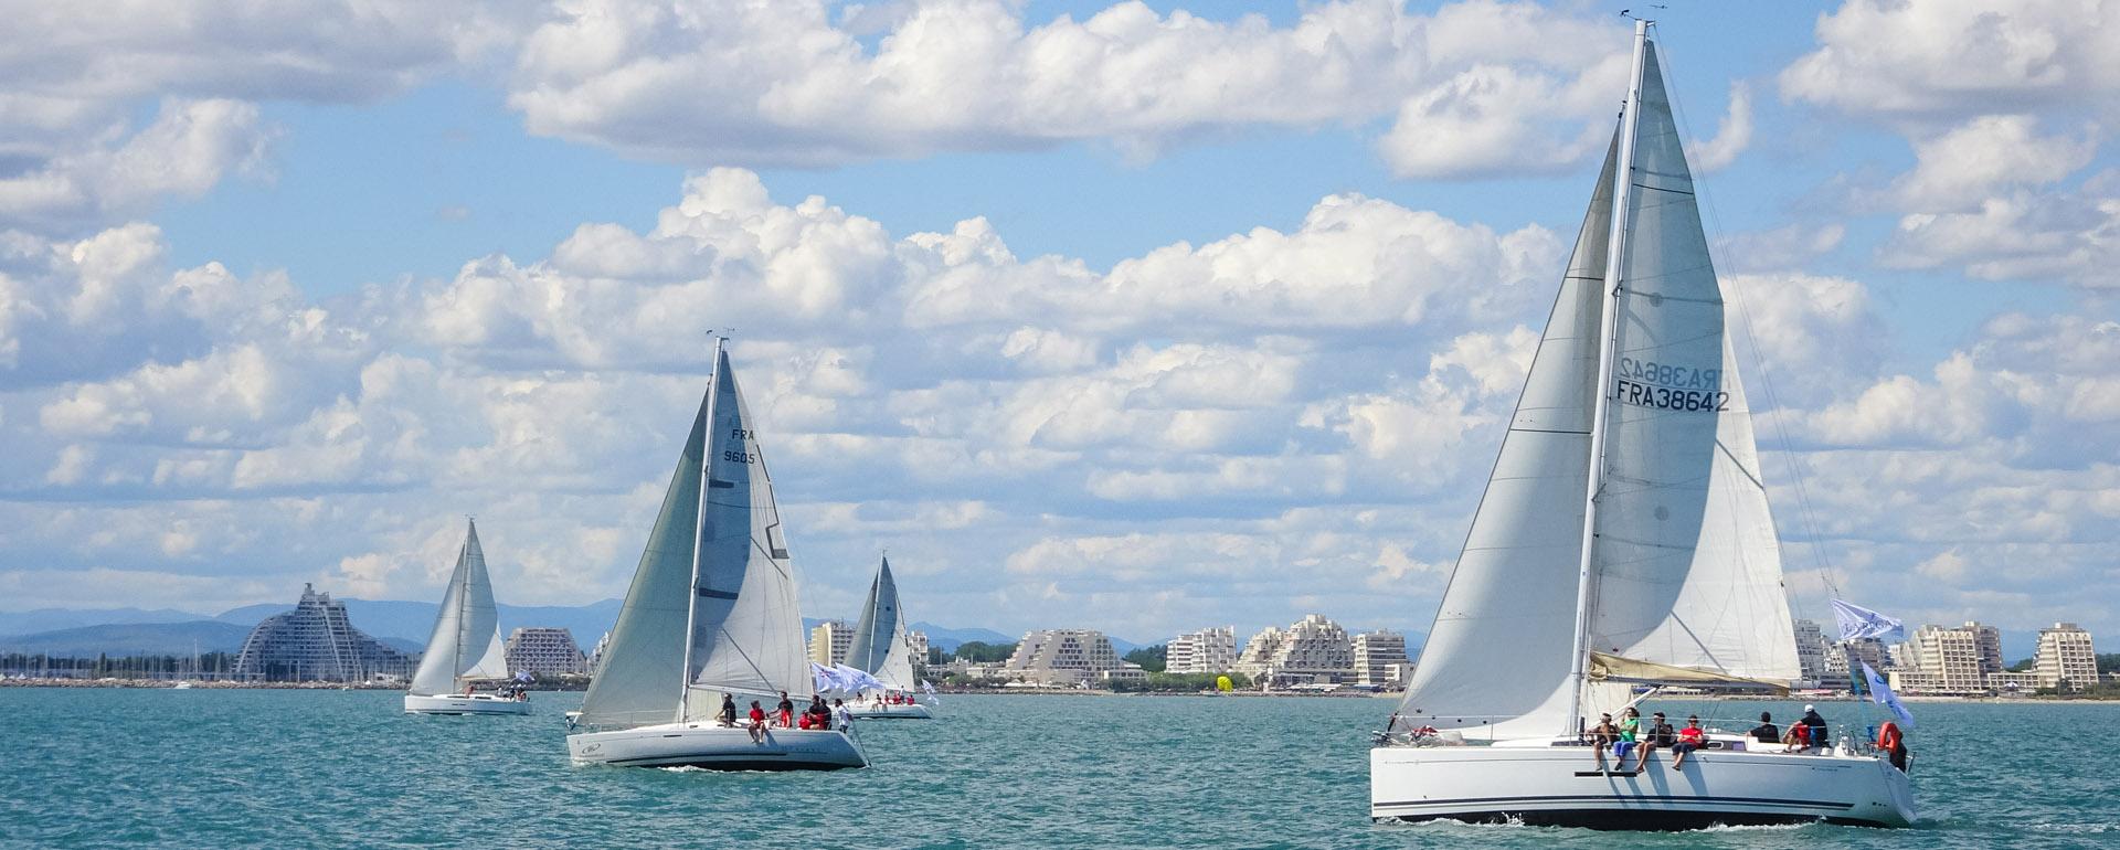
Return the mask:
<path id="1" fill-rule="evenodd" d="M 1620 119 L 1620 161 L 1613 167 L 1611 187 L 1611 235 L 1605 242 L 1605 297 L 1598 318 L 1596 356 L 1596 403 L 1590 411 L 1590 483 L 1584 490 L 1584 536 L 1582 560 L 1575 570 L 1575 651 L 1569 659 L 1569 727 L 1562 736 L 1573 736 L 1582 725 L 1584 668 L 1590 661 L 1590 589 L 1596 583 L 1592 557 L 1596 547 L 1596 496 L 1605 490 L 1605 413 L 1611 407 L 1611 358 L 1618 343 L 1620 324 L 1620 280 L 1626 267 L 1628 201 L 1635 187 L 1635 134 L 1641 129 L 1641 72 L 1643 55 L 1649 51 L 1649 21 L 1635 19 L 1635 68 L 1626 76 L 1626 108 Z"/>

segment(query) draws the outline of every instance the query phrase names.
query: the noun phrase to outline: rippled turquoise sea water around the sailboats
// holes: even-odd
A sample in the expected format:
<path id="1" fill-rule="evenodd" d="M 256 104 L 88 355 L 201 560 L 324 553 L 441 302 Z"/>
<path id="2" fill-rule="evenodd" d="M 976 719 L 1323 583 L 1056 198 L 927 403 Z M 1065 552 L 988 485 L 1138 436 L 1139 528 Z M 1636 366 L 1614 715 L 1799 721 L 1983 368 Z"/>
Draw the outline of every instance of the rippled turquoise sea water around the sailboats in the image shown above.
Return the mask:
<path id="1" fill-rule="evenodd" d="M 1389 700 L 943 697 L 939 721 L 863 723 L 876 765 L 837 774 L 572 767 L 579 702 L 462 719 L 379 691 L 0 689 L 0 848 L 2120 846 L 2120 704 L 1914 706 L 1919 829 L 1662 835 L 1372 825 L 1365 733 Z"/>

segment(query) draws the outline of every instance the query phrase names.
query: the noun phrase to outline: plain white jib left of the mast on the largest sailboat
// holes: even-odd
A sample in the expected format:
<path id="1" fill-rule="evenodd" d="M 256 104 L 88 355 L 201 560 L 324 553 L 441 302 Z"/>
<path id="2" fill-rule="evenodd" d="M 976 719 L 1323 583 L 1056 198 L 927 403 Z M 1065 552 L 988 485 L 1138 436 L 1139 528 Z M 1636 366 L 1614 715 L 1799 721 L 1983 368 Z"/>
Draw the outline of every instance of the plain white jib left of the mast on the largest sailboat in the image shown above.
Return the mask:
<path id="1" fill-rule="evenodd" d="M 1408 683 L 1401 725 L 1507 736 L 1565 723 L 1615 159 L 1618 140 Z"/>

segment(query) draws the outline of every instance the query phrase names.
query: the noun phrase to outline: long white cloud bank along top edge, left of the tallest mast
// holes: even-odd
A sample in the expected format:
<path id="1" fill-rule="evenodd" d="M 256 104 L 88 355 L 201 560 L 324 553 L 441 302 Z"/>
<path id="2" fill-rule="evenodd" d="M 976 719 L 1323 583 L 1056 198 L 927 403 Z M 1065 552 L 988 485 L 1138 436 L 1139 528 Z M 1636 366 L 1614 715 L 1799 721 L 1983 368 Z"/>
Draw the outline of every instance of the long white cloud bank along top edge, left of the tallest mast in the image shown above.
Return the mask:
<path id="1" fill-rule="evenodd" d="M 871 49 L 863 36 L 878 25 L 888 32 Z M 1149 155 L 1238 127 L 1397 112 L 1386 159 L 1401 174 L 1461 176 L 1586 157 L 1592 117 L 1624 76 L 1622 47 L 1615 23 L 1512 2 L 1433 15 L 1327 2 L 1276 28 L 1141 2 L 1030 25 L 1001 0 L 842 21 L 825 2 L 581 0 L 528 36 L 509 104 L 536 134 L 765 165 L 1071 140 Z"/>

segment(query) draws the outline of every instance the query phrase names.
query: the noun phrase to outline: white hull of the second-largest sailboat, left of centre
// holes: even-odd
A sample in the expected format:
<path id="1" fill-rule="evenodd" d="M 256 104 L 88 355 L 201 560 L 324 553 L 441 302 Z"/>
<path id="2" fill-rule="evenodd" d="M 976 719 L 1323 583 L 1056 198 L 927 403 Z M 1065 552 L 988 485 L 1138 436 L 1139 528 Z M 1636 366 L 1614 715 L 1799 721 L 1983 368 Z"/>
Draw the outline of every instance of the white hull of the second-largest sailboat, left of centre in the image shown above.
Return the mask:
<path id="1" fill-rule="evenodd" d="M 706 767 L 706 769 L 840 769 L 867 767 L 844 731 L 767 729 L 753 742 L 746 727 L 712 723 L 661 723 L 619 731 L 566 736 L 566 752 L 579 765 Z"/>

